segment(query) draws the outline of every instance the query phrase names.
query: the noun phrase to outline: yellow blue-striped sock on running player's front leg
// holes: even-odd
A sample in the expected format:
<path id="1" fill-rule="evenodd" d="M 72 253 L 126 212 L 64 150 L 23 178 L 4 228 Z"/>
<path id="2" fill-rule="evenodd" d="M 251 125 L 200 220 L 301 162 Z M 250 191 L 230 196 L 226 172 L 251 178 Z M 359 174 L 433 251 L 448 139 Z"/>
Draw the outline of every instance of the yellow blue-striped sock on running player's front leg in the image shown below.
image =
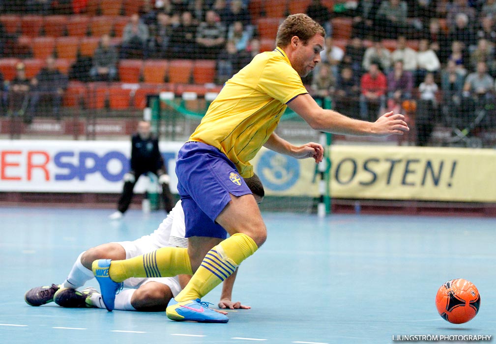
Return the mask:
<path id="1" fill-rule="evenodd" d="M 258 249 L 248 235 L 236 233 L 208 251 L 187 286 L 176 301 L 202 298 L 228 278 L 242 261 Z"/>

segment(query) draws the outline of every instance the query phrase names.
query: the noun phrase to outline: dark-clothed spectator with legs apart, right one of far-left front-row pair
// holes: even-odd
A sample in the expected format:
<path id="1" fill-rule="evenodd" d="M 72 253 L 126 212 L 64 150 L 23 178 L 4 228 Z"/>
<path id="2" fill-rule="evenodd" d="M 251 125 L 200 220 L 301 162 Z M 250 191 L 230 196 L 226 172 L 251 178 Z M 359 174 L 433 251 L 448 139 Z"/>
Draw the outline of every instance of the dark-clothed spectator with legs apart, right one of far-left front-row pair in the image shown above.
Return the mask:
<path id="1" fill-rule="evenodd" d="M 52 113 L 59 120 L 62 96 L 67 88 L 67 82 L 67 75 L 62 74 L 55 65 L 55 57 L 47 57 L 46 66 L 31 80 L 33 92 L 31 92 L 29 113 L 25 117 L 26 122 L 32 121 L 42 97 L 51 101 Z"/>

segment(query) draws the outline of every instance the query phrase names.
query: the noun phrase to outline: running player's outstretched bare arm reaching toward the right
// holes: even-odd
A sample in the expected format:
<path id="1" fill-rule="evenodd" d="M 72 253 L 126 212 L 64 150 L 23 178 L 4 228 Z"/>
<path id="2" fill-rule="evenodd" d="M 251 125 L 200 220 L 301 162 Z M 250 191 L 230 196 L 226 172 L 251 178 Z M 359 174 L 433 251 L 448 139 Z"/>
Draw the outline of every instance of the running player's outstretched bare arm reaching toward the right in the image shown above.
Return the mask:
<path id="1" fill-rule="evenodd" d="M 385 136 L 403 135 L 408 131 L 405 116 L 388 112 L 375 122 L 353 119 L 333 110 L 324 110 L 309 94 L 301 94 L 288 103 L 291 110 L 300 115 L 309 125 L 319 131 L 346 135 Z"/>

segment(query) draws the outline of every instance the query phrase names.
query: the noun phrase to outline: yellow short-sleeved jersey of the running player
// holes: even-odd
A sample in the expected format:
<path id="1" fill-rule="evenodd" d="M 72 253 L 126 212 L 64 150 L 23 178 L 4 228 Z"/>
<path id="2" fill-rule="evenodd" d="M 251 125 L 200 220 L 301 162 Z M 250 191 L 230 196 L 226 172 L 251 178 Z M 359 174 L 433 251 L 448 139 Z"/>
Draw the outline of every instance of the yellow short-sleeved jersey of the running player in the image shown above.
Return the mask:
<path id="1" fill-rule="evenodd" d="M 305 93 L 282 49 L 258 54 L 226 82 L 189 140 L 218 148 L 250 177 L 249 161 L 276 128 L 286 103 Z"/>

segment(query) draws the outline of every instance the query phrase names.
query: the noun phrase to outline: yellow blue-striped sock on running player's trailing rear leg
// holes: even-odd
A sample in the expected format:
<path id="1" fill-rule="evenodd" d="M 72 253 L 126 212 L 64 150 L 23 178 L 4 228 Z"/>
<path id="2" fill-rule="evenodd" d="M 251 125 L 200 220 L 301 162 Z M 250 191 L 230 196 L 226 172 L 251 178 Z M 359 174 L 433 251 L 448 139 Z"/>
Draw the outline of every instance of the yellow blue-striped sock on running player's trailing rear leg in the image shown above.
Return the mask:
<path id="1" fill-rule="evenodd" d="M 114 282 L 123 282 L 130 277 L 174 277 L 192 275 L 187 248 L 162 247 L 141 256 L 113 260 L 109 276 Z"/>

